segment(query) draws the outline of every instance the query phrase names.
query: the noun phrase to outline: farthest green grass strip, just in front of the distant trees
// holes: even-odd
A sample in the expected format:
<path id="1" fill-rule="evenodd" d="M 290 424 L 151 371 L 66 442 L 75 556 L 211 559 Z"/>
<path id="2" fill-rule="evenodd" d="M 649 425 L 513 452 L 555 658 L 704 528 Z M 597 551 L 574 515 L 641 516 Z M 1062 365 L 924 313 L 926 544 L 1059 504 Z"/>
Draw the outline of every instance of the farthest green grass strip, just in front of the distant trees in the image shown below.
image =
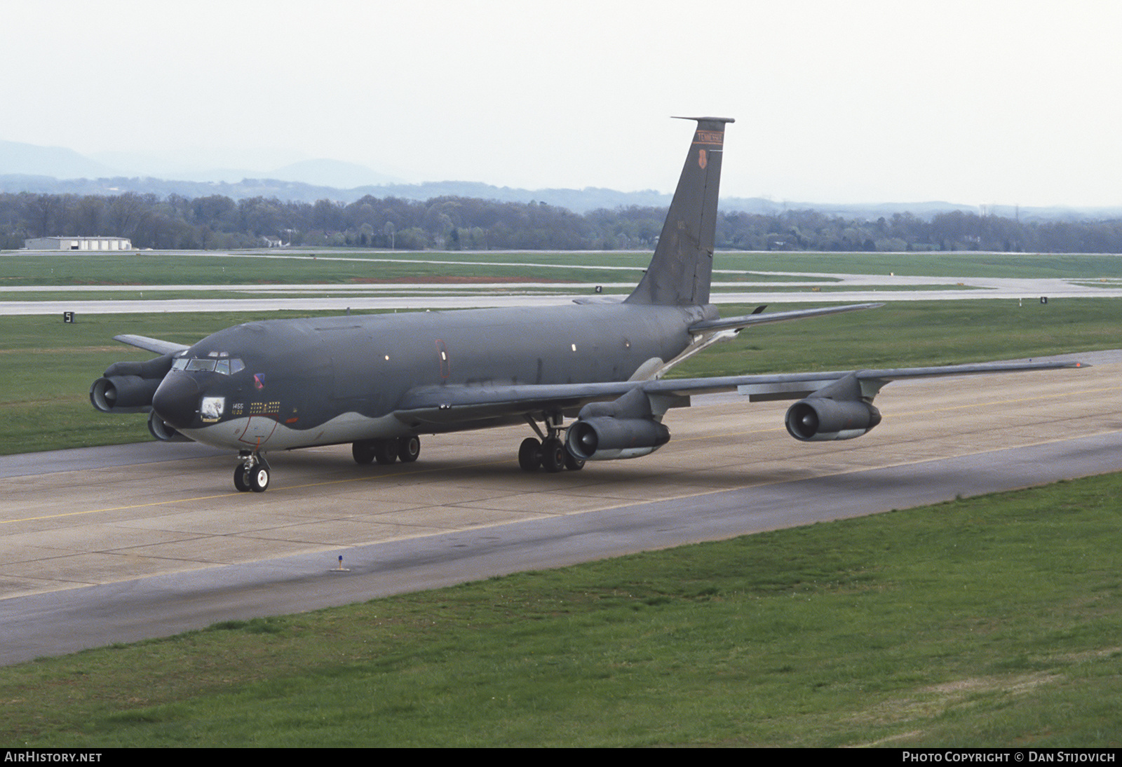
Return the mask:
<path id="1" fill-rule="evenodd" d="M 635 281 L 651 253 L 633 252 L 389 252 L 380 250 L 239 252 L 121 251 L 0 253 L 2 286 L 28 285 L 238 285 L 254 283 L 362 283 L 370 279 L 533 277 L 567 281 Z M 838 272 L 929 277 L 1122 277 L 1122 257 L 1059 253 L 818 253 L 721 251 L 717 279 L 792 279 L 747 272 Z M 605 271 L 605 267 L 611 271 Z"/>

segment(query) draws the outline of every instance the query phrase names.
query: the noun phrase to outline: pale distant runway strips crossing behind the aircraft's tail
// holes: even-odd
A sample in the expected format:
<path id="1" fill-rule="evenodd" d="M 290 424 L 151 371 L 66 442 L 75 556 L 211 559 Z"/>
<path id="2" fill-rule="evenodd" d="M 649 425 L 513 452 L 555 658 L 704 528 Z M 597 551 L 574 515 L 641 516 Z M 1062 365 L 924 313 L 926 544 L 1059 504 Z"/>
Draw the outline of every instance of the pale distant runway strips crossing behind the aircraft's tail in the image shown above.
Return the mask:
<path id="1" fill-rule="evenodd" d="M 44 258 L 49 253 L 42 253 Z M 149 253 L 157 256 L 157 253 Z M 421 258 L 416 253 L 393 258 L 352 258 L 330 253 L 190 252 L 169 251 L 175 258 L 346 261 L 364 264 L 377 274 L 377 266 L 414 264 L 422 266 L 486 267 L 496 275 L 486 283 L 458 283 L 430 278 L 416 283 L 313 283 L 313 284 L 218 284 L 218 285 L 0 285 L 0 315 L 146 314 L 191 312 L 377 312 L 394 309 L 459 309 L 514 306 L 559 306 L 574 299 L 622 299 L 643 271 L 640 267 L 581 264 L 545 264 L 526 260 L 458 260 Z M 496 251 L 487 255 L 500 256 Z M 573 253 L 576 257 L 577 255 Z M 533 256 L 528 257 L 533 259 Z M 503 280 L 504 269 L 532 267 L 541 281 Z M 603 271 L 599 283 L 558 281 L 555 270 Z M 928 277 L 895 274 L 826 274 L 714 269 L 714 304 L 787 304 L 791 302 L 875 303 L 883 301 L 1039 301 L 1061 298 L 1120 298 L 1122 281 L 1116 278 L 1030 277 Z M 603 289 L 598 294 L 597 289 Z M 100 294 L 94 296 L 93 294 Z M 107 297 L 111 296 L 111 297 Z M 183 295 L 190 294 L 190 295 Z"/>

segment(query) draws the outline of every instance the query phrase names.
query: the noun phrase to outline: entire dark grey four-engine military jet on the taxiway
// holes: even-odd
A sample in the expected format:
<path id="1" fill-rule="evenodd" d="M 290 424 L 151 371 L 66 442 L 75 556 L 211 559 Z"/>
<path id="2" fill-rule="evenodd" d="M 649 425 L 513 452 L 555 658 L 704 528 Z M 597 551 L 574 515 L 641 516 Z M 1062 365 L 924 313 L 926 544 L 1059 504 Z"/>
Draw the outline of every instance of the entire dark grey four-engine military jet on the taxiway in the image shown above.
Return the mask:
<path id="1" fill-rule="evenodd" d="M 733 376 L 668 380 L 710 344 L 757 324 L 872 308 L 856 304 L 721 318 L 709 303 L 727 118 L 697 128 L 650 267 L 627 298 L 573 305 L 249 322 L 186 346 L 116 340 L 159 357 L 117 362 L 90 388 L 107 413 L 147 412 L 157 438 L 238 451 L 233 484 L 263 492 L 270 450 L 351 443 L 358 463 L 411 462 L 422 434 L 525 423 L 526 471 L 647 455 L 670 440 L 669 408 L 738 391 L 795 399 L 795 440 L 849 440 L 881 422 L 873 397 L 901 378 L 1039 370 L 1077 363 Z M 565 418 L 573 418 L 565 427 Z M 182 436 L 181 436 L 182 435 Z"/>

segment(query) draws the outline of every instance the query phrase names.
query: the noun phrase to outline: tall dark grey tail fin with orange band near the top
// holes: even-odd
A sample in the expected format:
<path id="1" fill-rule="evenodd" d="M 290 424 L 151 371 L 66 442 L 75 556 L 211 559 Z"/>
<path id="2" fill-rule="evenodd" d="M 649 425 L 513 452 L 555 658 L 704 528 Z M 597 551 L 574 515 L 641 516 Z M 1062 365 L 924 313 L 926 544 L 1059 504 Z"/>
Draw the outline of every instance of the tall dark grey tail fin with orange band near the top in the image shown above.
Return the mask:
<path id="1" fill-rule="evenodd" d="M 693 142 L 686 156 L 678 190 L 670 203 L 654 258 L 628 304 L 708 304 L 712 276 L 714 232 L 717 225 L 717 192 L 725 123 L 732 118 L 679 118 L 697 120 Z"/>

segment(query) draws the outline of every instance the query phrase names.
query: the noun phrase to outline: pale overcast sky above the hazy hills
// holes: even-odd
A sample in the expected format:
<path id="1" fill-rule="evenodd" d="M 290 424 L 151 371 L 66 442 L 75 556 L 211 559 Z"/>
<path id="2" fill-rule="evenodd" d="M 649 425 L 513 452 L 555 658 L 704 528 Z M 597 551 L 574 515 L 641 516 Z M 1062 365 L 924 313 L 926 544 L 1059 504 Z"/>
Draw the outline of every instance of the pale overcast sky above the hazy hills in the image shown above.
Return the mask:
<path id="1" fill-rule="evenodd" d="M 1122 205 L 1120 37 L 1106 0 L 0 0 L 0 139 L 669 192 L 669 115 L 711 114 L 726 195 Z"/>

